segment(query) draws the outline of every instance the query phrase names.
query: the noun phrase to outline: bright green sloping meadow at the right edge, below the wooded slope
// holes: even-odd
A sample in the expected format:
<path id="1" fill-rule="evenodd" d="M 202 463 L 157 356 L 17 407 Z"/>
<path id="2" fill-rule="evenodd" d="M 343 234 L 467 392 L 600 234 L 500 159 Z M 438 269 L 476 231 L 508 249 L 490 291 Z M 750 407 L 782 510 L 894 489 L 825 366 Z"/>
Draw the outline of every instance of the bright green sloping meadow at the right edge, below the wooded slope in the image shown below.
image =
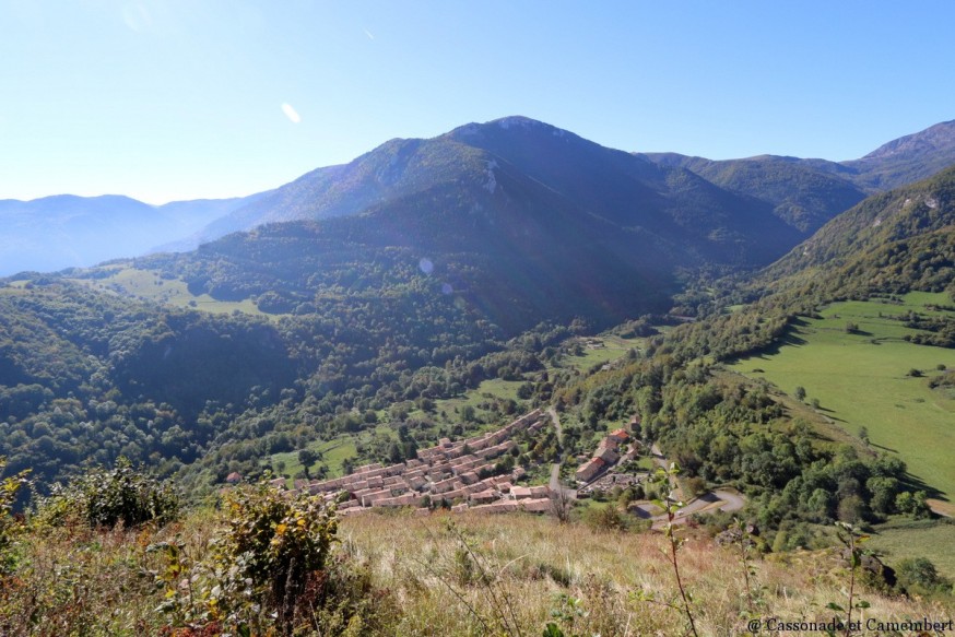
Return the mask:
<path id="1" fill-rule="evenodd" d="M 801 319 L 774 352 L 729 367 L 765 378 L 805 401 L 851 435 L 865 427 L 876 449 L 897 453 L 915 479 L 955 499 L 955 398 L 929 387 L 938 367 L 955 368 L 955 351 L 907 343 L 915 333 L 891 317 L 915 310 L 938 316 L 927 304 L 951 305 L 944 294 L 912 293 L 901 304 L 847 302 L 829 306 L 822 319 Z M 950 312 L 951 314 L 951 312 Z M 847 323 L 858 325 L 856 333 Z M 912 377 L 910 370 L 923 377 Z"/>

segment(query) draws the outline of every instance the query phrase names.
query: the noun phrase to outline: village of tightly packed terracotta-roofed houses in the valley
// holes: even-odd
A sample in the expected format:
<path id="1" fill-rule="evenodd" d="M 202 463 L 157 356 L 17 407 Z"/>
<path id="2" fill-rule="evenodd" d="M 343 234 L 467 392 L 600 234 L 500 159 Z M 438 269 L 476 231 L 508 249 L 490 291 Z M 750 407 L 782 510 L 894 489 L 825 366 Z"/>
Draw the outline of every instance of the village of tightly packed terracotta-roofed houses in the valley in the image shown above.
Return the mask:
<path id="1" fill-rule="evenodd" d="M 435 507 L 488 514 L 546 512 L 551 510 L 554 485 L 516 484 L 524 477 L 524 468 L 507 470 L 507 463 L 498 461 L 517 448 L 512 440 L 516 434 L 533 434 L 546 423 L 546 415 L 534 410 L 495 432 L 455 443 L 443 438 L 436 447 L 420 449 L 417 458 L 405 462 L 386 467 L 365 464 L 342 477 L 296 481 L 295 487 L 321 495 L 329 502 L 345 497 L 339 500 L 341 516 L 361 515 L 381 507 L 410 507 L 415 515 L 427 515 Z M 629 438 L 622 428 L 611 433 L 600 443 L 593 457 L 580 465 L 575 477 L 582 496 L 592 488 L 591 481 L 605 480 L 610 468 L 636 457 L 638 443 L 623 447 Z M 633 476 L 621 476 L 625 477 Z M 274 482 L 276 486 L 284 486 L 283 479 Z M 577 492 L 573 493 L 576 497 Z"/>

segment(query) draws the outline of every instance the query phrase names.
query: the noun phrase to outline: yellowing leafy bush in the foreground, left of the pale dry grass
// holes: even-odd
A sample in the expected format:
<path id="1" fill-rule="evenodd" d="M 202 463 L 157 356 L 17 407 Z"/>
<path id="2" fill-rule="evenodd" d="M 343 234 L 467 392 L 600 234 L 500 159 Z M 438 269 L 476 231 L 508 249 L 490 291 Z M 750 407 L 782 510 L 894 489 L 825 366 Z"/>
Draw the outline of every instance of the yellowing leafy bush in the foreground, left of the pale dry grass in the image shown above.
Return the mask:
<path id="1" fill-rule="evenodd" d="M 154 575 L 173 634 L 387 632 L 391 613 L 368 569 L 346 551 L 332 554 L 334 504 L 263 480 L 229 492 L 224 510 L 226 526 L 204 557 L 180 540 L 152 546 L 166 554 Z"/>

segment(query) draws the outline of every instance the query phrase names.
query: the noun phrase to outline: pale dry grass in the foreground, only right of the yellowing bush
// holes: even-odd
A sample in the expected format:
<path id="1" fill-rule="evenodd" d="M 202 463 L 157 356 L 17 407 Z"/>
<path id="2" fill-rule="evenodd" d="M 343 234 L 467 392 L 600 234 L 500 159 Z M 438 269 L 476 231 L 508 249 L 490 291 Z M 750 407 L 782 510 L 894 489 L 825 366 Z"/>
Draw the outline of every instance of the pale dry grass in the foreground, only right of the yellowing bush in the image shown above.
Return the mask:
<path id="1" fill-rule="evenodd" d="M 400 635 L 541 635 L 547 622 L 568 636 L 688 629 L 670 605 L 679 606 L 679 589 L 661 533 L 600 532 L 530 516 L 370 515 L 345 520 L 340 536 L 397 598 Z M 754 561 L 748 593 L 740 546 L 696 534 L 679 558 L 700 635 L 746 635 L 758 618 L 829 621 L 837 613 L 827 604 L 846 605 L 848 569 L 835 551 Z M 853 614 L 862 613 L 863 626 L 868 618 L 953 616 L 940 602 L 865 587 L 860 597 L 871 604 Z"/>

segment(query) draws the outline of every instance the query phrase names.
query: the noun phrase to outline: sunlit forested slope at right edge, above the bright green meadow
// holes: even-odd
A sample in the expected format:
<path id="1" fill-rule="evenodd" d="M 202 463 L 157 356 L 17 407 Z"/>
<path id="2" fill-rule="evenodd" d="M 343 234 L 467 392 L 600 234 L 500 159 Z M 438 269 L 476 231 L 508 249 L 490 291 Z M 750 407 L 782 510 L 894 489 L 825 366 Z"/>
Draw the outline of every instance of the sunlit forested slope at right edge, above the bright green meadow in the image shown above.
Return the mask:
<path id="1" fill-rule="evenodd" d="M 833 300 L 924 291 L 955 302 L 953 193 L 955 167 L 866 199 L 732 295 L 754 303 L 676 330 L 668 346 L 726 359 L 769 346 Z"/>

